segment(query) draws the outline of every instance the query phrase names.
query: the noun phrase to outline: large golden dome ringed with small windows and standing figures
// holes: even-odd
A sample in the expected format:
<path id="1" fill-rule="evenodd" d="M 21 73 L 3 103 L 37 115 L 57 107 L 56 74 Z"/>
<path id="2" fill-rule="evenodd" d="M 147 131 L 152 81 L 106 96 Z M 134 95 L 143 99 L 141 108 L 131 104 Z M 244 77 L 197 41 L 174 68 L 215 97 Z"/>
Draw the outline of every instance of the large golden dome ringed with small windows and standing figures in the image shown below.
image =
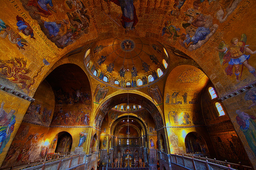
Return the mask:
<path id="1" fill-rule="evenodd" d="M 168 66 L 163 45 L 143 38 L 112 38 L 95 42 L 84 56 L 97 80 L 120 88 L 139 88 L 156 82 Z"/>

